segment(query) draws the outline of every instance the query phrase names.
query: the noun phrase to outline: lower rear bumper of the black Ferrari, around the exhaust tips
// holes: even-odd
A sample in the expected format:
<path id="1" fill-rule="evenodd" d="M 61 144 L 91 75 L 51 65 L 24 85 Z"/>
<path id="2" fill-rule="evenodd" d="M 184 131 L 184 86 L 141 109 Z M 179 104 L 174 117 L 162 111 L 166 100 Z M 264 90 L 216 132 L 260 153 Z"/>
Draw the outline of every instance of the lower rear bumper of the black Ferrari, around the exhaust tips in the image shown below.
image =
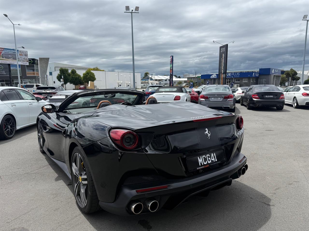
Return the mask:
<path id="1" fill-rule="evenodd" d="M 110 213 L 130 216 L 133 215 L 127 209 L 130 201 L 140 201 L 144 203 L 146 198 L 151 197 L 159 202 L 158 210 L 163 206 L 168 209 L 174 209 L 192 195 L 197 193 L 204 193 L 207 195 L 207 193 L 214 188 L 231 185 L 232 179 L 239 178 L 238 171 L 246 162 L 247 158 L 243 154 L 238 153 L 233 157 L 230 163 L 195 176 L 176 180 L 161 180 L 156 185 L 154 183 L 125 185 L 120 188 L 117 199 L 113 203 L 100 201 L 99 205 L 102 209 Z M 155 192 L 136 192 L 137 189 L 162 185 L 168 185 L 168 187 Z M 147 212 L 148 210 L 144 206 L 142 213 Z"/>

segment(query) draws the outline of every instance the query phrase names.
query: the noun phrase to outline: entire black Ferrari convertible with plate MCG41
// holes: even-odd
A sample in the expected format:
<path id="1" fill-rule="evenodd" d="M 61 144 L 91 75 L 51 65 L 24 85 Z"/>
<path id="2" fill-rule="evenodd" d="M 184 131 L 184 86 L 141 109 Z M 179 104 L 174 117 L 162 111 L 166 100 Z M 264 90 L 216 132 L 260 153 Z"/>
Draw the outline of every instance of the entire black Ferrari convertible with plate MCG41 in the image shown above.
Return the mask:
<path id="1" fill-rule="evenodd" d="M 78 208 L 118 215 L 173 209 L 245 174 L 243 118 L 199 104 L 82 91 L 37 118 L 40 152 L 72 180 Z M 87 102 L 76 107 L 76 102 Z"/>

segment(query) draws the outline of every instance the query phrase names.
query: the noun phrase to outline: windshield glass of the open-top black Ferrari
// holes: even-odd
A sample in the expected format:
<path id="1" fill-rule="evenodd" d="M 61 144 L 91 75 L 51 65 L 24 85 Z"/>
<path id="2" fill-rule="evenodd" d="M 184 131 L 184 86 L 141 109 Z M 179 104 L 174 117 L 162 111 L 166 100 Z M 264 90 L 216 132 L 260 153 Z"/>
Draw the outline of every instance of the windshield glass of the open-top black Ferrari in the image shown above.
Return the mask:
<path id="1" fill-rule="evenodd" d="M 135 99 L 138 95 L 126 94 L 126 93 L 110 93 L 110 94 L 102 94 L 102 95 L 95 95 L 95 96 L 82 96 L 76 99 L 73 103 L 68 105 L 65 110 L 68 109 L 77 109 L 83 107 L 98 107 L 98 104 L 101 101 L 108 101 L 112 105 L 119 104 L 123 102 L 129 102 L 134 104 Z M 78 102 L 78 103 L 77 103 Z"/>

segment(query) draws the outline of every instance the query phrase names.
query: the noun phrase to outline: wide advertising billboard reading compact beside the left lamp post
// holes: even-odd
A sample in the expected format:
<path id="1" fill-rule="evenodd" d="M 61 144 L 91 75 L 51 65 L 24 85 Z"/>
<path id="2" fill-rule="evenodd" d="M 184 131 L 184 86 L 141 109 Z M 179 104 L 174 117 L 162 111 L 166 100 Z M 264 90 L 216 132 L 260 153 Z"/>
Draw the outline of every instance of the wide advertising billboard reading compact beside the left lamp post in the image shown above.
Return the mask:
<path id="1" fill-rule="evenodd" d="M 29 65 L 28 51 L 17 50 L 18 64 Z M 16 64 L 15 49 L 0 47 L 0 63 Z"/>

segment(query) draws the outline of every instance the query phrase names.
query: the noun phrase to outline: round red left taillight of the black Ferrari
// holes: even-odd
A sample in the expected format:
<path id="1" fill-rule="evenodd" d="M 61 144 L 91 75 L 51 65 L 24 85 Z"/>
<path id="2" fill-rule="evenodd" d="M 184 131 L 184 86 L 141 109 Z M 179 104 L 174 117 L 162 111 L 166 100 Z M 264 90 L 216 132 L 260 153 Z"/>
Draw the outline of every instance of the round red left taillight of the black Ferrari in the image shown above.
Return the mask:
<path id="1" fill-rule="evenodd" d="M 113 129 L 109 132 L 112 141 L 124 149 L 134 149 L 138 145 L 138 135 L 124 129 Z"/>

